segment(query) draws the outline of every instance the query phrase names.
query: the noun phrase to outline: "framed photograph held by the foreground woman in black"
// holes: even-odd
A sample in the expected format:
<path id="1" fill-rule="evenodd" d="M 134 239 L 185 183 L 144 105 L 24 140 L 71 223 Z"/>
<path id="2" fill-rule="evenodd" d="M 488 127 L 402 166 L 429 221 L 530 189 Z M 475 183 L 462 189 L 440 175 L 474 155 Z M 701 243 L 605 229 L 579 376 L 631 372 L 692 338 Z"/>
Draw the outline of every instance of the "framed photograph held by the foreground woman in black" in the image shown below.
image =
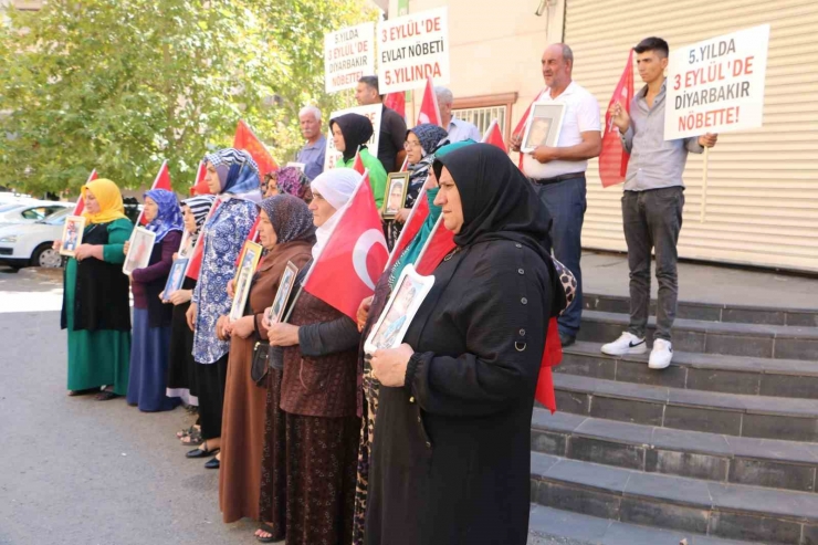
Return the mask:
<path id="1" fill-rule="evenodd" d="M 395 290 L 364 344 L 364 352 L 373 355 L 381 348 L 396 348 L 403 342 L 415 314 L 420 308 L 429 291 L 434 285 L 434 276 L 421 276 L 415 266 L 407 265 L 395 284 Z"/>

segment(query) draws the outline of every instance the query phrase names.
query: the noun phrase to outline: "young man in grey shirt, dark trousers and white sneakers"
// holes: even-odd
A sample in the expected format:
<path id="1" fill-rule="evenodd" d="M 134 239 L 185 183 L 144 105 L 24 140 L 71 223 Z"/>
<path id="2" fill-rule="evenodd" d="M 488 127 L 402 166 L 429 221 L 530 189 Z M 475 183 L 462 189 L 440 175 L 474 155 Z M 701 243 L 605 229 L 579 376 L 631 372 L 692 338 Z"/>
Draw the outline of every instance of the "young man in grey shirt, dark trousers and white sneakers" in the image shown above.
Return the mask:
<path id="1" fill-rule="evenodd" d="M 611 106 L 611 123 L 630 153 L 622 196 L 622 222 L 630 268 L 630 325 L 615 342 L 602 346 L 611 356 L 644 354 L 650 306 L 651 249 L 656 250 L 659 302 L 651 369 L 664 369 L 673 357 L 670 329 L 677 313 L 679 279 L 677 242 L 682 229 L 688 153 L 713 147 L 716 135 L 664 139 L 668 42 L 646 38 L 635 48 L 644 87 L 633 97 L 630 115 L 620 103 Z"/>

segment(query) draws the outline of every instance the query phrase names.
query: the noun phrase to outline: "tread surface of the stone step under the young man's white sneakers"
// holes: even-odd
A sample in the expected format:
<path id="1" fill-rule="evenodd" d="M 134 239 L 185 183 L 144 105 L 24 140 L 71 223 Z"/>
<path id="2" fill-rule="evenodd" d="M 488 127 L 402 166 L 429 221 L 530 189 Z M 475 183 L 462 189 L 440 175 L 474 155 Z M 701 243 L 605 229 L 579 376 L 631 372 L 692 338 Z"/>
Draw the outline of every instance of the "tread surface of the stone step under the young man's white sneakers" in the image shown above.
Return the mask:
<path id="1" fill-rule="evenodd" d="M 573 345 L 563 348 L 563 352 L 575 356 L 609 359 L 611 361 L 632 361 L 644 364 L 646 366 L 648 365 L 648 358 L 650 357 L 649 352 L 644 354 L 609 356 L 608 354 L 602 354 L 601 347 L 602 343 L 577 340 Z M 806 359 L 773 359 L 752 356 L 673 350 L 673 360 L 670 365 L 675 367 L 691 367 L 694 369 L 728 370 L 759 375 L 818 377 L 818 365 L 816 365 L 815 361 L 808 361 Z M 555 369 L 558 369 L 558 367 Z"/>

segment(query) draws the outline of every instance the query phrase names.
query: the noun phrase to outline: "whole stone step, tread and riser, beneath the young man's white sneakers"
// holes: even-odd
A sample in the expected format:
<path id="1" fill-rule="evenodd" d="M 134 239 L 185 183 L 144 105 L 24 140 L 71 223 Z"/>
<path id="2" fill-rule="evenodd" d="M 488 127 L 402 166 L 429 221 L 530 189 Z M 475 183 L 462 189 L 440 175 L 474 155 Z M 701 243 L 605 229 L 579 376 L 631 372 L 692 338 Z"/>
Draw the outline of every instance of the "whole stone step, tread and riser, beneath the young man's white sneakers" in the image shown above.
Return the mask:
<path id="1" fill-rule="evenodd" d="M 579 340 L 563 350 L 556 373 L 621 382 L 754 396 L 818 399 L 818 365 L 800 359 L 770 359 L 673 352 L 667 369 L 648 367 L 649 354 L 608 356 L 601 344 Z"/>

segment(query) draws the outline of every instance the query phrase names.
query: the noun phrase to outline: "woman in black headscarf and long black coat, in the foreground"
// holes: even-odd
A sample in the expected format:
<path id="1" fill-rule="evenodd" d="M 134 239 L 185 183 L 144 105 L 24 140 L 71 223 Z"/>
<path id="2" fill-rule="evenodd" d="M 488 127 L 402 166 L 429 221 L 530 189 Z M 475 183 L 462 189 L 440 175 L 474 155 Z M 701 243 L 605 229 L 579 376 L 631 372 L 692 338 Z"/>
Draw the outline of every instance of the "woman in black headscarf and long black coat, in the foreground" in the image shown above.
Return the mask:
<path id="1" fill-rule="evenodd" d="M 365 543 L 522 545 L 531 418 L 548 319 L 565 293 L 550 218 L 499 148 L 436 159 L 457 248 L 380 380 Z"/>

